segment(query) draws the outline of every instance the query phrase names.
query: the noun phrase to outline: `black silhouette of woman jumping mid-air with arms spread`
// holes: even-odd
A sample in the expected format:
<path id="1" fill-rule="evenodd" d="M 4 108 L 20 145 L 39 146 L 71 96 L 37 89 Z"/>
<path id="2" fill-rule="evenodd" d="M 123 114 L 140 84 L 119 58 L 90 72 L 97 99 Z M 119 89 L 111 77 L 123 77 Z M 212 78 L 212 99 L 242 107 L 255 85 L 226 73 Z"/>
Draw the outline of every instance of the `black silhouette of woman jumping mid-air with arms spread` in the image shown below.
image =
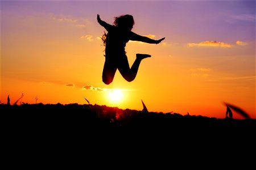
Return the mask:
<path id="1" fill-rule="evenodd" d="M 133 29 L 134 25 L 132 15 L 121 15 L 114 19 L 114 25 L 110 25 L 101 20 L 100 15 L 97 15 L 98 23 L 108 31 L 107 34 L 104 32 L 101 38 L 105 45 L 105 63 L 102 72 L 102 81 L 105 84 L 113 82 L 117 69 L 128 82 L 133 81 L 137 75 L 142 59 L 151 57 L 149 54 L 136 54 L 133 66 L 130 68 L 125 52 L 125 46 L 129 40 L 159 44 L 165 39 L 164 37 L 159 40 L 153 40 L 132 32 L 131 29 Z"/>

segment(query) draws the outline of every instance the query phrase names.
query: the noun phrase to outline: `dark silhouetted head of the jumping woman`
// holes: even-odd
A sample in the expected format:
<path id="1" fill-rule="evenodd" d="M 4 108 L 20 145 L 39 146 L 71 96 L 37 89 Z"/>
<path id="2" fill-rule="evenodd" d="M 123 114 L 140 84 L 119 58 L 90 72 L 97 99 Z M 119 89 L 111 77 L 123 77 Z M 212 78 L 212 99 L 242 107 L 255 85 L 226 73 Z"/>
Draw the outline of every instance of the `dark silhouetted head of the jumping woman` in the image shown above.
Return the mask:
<path id="1" fill-rule="evenodd" d="M 133 29 L 134 20 L 132 15 L 121 15 L 115 17 L 114 25 L 122 29 Z"/>

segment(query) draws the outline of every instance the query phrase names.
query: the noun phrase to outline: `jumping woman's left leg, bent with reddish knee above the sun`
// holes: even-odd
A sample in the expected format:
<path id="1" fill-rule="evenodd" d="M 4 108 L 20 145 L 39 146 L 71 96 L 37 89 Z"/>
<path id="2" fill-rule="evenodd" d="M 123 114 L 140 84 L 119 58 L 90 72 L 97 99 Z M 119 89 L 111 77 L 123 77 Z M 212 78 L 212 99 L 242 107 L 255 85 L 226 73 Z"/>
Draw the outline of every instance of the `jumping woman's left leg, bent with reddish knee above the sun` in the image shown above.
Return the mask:
<path id="1" fill-rule="evenodd" d="M 102 82 L 105 84 L 110 84 L 113 82 L 115 71 L 117 71 L 117 67 L 113 61 L 109 59 L 105 59 L 104 68 L 102 71 Z"/>

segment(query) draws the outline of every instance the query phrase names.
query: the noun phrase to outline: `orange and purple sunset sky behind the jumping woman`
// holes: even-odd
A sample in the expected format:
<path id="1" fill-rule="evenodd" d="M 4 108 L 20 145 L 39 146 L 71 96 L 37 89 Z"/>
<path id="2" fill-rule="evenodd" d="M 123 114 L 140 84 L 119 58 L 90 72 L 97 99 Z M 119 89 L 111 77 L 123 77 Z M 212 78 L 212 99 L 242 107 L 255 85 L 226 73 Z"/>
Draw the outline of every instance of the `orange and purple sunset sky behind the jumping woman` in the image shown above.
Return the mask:
<path id="1" fill-rule="evenodd" d="M 114 17 L 134 16 L 129 41 L 151 54 L 137 77 L 102 82 L 100 37 Z M 119 99 L 110 94 L 119 90 Z M 1 1 L 1 103 L 107 105 L 225 118 L 224 102 L 255 116 L 255 1 Z M 233 118 L 242 118 L 233 113 Z"/>

